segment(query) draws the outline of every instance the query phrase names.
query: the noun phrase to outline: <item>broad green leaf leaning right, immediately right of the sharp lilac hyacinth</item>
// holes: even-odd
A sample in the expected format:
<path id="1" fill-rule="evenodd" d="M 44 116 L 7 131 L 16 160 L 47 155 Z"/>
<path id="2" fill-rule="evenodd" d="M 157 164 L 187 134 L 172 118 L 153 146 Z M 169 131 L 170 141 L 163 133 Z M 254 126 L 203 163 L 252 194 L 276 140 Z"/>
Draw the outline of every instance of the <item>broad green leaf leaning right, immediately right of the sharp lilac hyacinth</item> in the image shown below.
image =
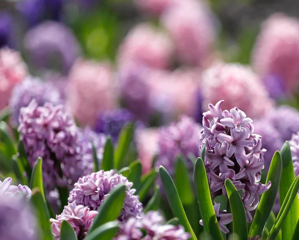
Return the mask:
<path id="1" fill-rule="evenodd" d="M 269 220 L 276 200 L 277 191 L 281 179 L 282 165 L 283 164 L 280 153 L 276 151 L 272 158 L 266 180 L 266 183 L 271 181 L 271 188 L 262 195 L 260 204 L 256 210 L 251 224 L 249 237 L 253 237 L 256 235 L 262 237 L 264 234 L 266 224 Z"/>

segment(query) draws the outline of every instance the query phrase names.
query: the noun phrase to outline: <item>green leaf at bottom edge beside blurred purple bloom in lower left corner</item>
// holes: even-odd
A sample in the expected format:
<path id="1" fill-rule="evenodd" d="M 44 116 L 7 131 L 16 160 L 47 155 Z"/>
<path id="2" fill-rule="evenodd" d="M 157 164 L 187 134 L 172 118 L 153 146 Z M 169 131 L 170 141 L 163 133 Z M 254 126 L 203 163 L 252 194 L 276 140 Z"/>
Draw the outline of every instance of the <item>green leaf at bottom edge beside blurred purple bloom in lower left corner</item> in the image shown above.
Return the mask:
<path id="1" fill-rule="evenodd" d="M 47 205 L 45 203 L 43 195 L 41 194 L 41 192 L 39 192 L 39 189 L 33 189 L 30 201 L 35 208 L 36 217 L 38 220 L 37 222 L 40 227 L 40 239 L 53 240 Z"/>

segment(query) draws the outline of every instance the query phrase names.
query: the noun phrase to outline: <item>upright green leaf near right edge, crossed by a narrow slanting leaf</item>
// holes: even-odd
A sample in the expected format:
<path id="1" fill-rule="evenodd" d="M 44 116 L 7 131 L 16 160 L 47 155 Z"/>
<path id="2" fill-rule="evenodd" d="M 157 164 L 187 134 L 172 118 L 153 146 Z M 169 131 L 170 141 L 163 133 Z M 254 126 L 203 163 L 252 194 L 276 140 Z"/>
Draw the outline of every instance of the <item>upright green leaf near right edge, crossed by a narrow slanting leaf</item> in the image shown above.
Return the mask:
<path id="1" fill-rule="evenodd" d="M 285 197 L 295 180 L 295 172 L 293 166 L 293 160 L 291 155 L 290 143 L 287 141 L 282 147 L 281 156 L 283 161 L 282 177 L 279 185 L 279 199 L 282 206 Z M 286 220 L 282 226 L 282 234 L 284 240 L 292 239 L 297 222 L 299 220 L 299 199 L 296 198 L 290 209 Z"/>

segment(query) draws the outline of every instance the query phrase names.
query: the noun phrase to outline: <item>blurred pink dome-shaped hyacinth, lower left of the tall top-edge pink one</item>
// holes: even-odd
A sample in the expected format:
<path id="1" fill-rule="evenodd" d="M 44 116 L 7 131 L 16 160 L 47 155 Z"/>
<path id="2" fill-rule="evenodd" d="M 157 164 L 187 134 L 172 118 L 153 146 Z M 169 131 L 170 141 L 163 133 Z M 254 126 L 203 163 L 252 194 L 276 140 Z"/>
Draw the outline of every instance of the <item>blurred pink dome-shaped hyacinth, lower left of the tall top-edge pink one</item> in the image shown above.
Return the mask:
<path id="1" fill-rule="evenodd" d="M 154 68 L 167 67 L 172 44 L 167 35 L 148 23 L 135 26 L 126 36 L 119 50 L 119 63 L 134 61 Z"/>

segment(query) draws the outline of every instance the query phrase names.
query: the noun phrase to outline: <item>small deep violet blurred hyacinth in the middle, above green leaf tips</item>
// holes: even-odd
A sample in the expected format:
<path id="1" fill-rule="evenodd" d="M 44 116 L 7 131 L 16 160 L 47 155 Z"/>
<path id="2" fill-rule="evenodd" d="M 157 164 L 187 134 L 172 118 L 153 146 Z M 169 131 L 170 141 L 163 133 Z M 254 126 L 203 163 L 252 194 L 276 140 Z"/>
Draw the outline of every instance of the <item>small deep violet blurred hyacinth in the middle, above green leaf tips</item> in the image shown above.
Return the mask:
<path id="1" fill-rule="evenodd" d="M 110 135 L 113 142 L 116 142 L 125 123 L 133 120 L 134 116 L 127 109 L 106 111 L 99 115 L 95 131 Z"/>

